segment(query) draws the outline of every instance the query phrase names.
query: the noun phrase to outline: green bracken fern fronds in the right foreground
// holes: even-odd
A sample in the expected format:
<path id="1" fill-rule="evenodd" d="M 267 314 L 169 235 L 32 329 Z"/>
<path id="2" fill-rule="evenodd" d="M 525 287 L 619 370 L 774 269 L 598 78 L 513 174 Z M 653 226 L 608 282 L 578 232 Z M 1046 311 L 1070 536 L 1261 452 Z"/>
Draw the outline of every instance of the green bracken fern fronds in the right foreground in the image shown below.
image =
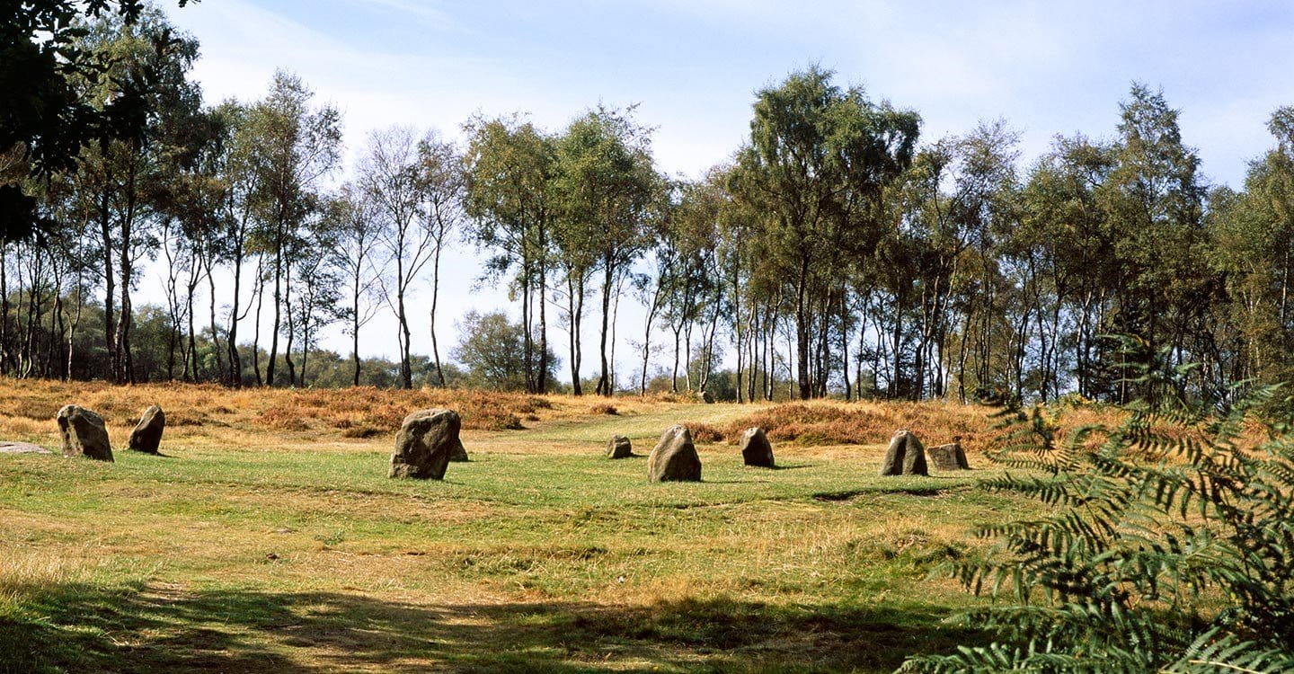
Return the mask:
<path id="1" fill-rule="evenodd" d="M 1139 366 L 1139 388 L 1189 376 L 1163 360 Z M 1009 406 L 991 458 L 1029 475 L 981 486 L 1051 511 L 981 528 L 996 545 L 955 567 L 1000 600 L 960 617 L 996 643 L 903 670 L 1294 670 L 1294 427 L 1259 413 L 1281 395 L 1259 388 L 1218 417 L 1162 396 L 1062 439 L 1043 408 Z"/>

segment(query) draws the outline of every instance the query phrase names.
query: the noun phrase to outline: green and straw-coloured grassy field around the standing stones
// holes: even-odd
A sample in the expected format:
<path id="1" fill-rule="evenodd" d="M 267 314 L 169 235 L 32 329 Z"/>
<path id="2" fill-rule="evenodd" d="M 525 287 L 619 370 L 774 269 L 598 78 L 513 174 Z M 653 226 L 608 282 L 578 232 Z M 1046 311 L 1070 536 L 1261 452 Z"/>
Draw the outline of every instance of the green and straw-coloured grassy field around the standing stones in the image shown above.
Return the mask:
<path id="1" fill-rule="evenodd" d="M 0 455 L 0 671 L 889 671 L 982 640 L 930 572 L 1030 507 L 982 471 L 876 476 L 899 426 L 985 467 L 982 409 L 0 380 L 0 440 L 57 451 L 66 402 L 116 462 Z M 151 402 L 160 457 L 126 449 Z M 472 461 L 387 479 L 431 405 Z M 668 426 L 761 418 L 796 419 L 778 470 L 719 441 L 703 483 L 647 483 Z M 603 458 L 613 433 L 639 455 Z"/>

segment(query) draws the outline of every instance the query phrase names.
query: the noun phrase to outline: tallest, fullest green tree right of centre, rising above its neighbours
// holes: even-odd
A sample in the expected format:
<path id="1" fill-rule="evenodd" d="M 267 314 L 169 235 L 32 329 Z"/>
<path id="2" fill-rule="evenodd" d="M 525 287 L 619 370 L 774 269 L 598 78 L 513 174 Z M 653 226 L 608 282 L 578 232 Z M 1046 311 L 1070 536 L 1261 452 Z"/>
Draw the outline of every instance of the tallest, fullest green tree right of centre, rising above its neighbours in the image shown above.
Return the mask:
<path id="1" fill-rule="evenodd" d="M 875 247 L 884 226 L 877 199 L 911 163 L 920 127 L 916 113 L 873 103 L 861 88 L 831 79 L 814 66 L 758 93 L 732 181 L 767 213 L 752 241 L 763 273 L 795 298 L 801 398 L 814 395 L 810 344 L 824 332 L 820 317 L 857 259 Z"/>

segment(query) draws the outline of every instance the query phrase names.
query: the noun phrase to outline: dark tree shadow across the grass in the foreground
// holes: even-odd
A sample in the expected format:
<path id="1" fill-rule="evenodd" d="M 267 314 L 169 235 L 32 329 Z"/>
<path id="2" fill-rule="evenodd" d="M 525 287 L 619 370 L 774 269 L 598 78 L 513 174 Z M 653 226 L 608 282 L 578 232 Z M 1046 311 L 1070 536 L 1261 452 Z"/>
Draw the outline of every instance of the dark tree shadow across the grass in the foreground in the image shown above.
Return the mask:
<path id="1" fill-rule="evenodd" d="M 43 589 L 0 671 L 892 671 L 983 638 L 932 607 L 730 599 L 415 605 L 340 592 Z"/>

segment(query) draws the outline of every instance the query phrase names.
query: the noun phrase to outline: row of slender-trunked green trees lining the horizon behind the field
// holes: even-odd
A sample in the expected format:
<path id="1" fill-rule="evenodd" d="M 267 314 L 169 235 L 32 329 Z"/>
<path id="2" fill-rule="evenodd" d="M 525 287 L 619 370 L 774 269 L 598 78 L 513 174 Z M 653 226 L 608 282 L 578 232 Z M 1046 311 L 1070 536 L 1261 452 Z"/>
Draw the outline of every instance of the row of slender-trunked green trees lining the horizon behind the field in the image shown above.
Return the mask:
<path id="1" fill-rule="evenodd" d="M 1294 107 L 1272 113 L 1275 146 L 1240 190 L 1205 182 L 1178 111 L 1140 83 L 1114 138 L 1056 136 L 1024 164 L 1004 120 L 923 140 L 917 111 L 818 66 L 756 92 L 747 141 L 696 180 L 656 167 L 633 107 L 602 105 L 558 131 L 476 115 L 463 144 L 375 131 L 336 180 L 334 106 L 286 71 L 260 100 L 204 105 L 197 41 L 126 5 L 32 32 L 27 48 L 82 65 L 0 109 L 0 374 L 357 386 L 384 367 L 387 386 L 550 392 L 564 362 L 575 395 L 668 374 L 738 401 L 1112 402 L 1148 393 L 1134 373 L 1152 361 L 1183 369 L 1175 395 L 1212 402 L 1294 375 Z M 61 136 L 19 123 L 49 101 L 110 123 L 50 159 Z M 453 351 L 466 373 L 436 334 L 458 246 L 488 255 L 481 278 L 520 309 L 470 317 Z M 166 305 L 136 309 L 150 261 Z M 426 314 L 408 303 L 421 285 Z M 621 300 L 643 334 L 617 335 Z M 396 362 L 360 356 L 378 312 L 396 320 Z M 410 348 L 423 317 L 426 357 Z M 312 379 L 311 358 L 342 367 L 318 348 L 333 326 L 349 376 Z"/>

